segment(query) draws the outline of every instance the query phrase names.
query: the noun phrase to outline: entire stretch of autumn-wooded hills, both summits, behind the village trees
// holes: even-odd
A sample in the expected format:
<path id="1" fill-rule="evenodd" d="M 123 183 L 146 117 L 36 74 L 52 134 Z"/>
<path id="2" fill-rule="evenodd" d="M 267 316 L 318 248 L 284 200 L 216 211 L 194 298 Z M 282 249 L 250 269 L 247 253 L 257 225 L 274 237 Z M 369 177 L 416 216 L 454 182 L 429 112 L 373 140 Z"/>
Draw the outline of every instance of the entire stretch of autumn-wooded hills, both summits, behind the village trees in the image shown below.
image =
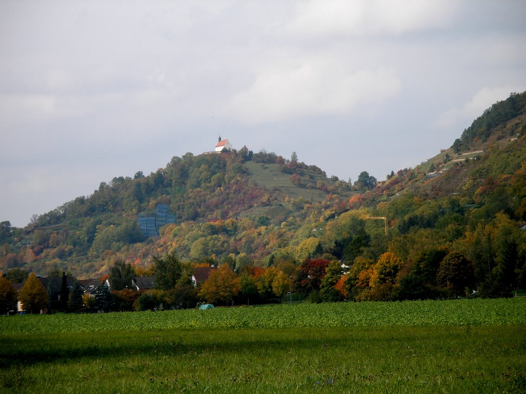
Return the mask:
<path id="1" fill-rule="evenodd" d="M 2 222 L 0 269 L 102 276 L 115 261 L 140 268 L 175 253 L 238 271 L 255 265 L 290 273 L 306 259 L 336 259 L 356 283 L 362 275 L 363 297 L 372 299 L 377 282 L 365 277 L 386 253 L 396 257 L 389 260 L 395 274 L 378 283 L 396 285 L 458 252 L 480 286 L 524 287 L 525 105 L 526 92 L 512 94 L 451 148 L 379 182 L 363 171 L 351 185 L 296 154 L 246 147 L 174 157 L 147 176 L 103 182 L 25 229 Z M 425 280 L 432 286 L 437 279 Z"/>

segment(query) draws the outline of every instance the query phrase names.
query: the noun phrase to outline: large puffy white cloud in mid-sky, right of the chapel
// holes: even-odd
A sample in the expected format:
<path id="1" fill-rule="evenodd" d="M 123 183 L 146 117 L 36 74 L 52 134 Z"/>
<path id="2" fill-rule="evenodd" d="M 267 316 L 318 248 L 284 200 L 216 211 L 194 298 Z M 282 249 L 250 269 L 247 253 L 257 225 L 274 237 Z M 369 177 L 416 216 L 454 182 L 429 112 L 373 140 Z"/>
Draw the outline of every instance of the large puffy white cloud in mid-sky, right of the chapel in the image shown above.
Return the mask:
<path id="1" fill-rule="evenodd" d="M 288 61 L 261 70 L 254 84 L 227 104 L 227 112 L 246 123 L 341 115 L 391 98 L 401 86 L 396 73 L 383 67 L 351 71 L 337 59 Z"/>

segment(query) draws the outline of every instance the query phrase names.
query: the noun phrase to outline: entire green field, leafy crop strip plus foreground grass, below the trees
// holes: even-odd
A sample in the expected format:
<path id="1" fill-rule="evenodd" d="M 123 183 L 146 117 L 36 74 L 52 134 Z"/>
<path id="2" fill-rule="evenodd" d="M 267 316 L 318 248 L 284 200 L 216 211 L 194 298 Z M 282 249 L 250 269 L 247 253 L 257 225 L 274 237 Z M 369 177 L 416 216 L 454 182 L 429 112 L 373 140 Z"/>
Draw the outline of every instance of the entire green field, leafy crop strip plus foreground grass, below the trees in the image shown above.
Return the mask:
<path id="1" fill-rule="evenodd" d="M 0 391 L 526 392 L 525 306 L 518 298 L 2 317 Z M 352 325 L 341 315 L 368 316 Z M 92 324 L 98 331 L 82 328 Z"/>

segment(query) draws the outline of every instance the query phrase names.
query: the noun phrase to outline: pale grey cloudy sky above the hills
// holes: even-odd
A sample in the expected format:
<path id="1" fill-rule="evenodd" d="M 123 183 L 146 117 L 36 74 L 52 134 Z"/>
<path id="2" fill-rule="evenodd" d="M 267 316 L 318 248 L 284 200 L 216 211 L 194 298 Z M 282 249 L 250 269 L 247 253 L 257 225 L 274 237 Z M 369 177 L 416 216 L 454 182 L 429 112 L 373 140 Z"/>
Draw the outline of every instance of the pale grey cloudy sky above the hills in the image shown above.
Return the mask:
<path id="1" fill-rule="evenodd" d="M 523 0 L 0 2 L 0 221 L 174 156 L 379 180 L 526 90 Z"/>

